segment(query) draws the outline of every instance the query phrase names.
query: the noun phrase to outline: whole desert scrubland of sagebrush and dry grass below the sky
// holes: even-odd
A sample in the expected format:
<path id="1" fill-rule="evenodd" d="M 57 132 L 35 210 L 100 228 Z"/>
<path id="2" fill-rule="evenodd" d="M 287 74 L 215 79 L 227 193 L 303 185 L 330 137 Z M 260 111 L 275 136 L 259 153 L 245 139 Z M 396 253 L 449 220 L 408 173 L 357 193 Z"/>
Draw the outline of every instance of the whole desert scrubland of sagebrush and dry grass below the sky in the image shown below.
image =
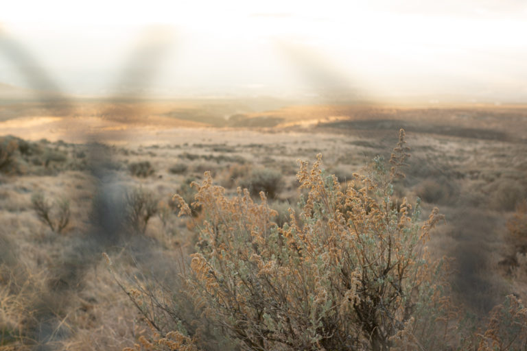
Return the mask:
<path id="1" fill-rule="evenodd" d="M 0 350 L 527 347 L 525 106 L 5 101 L 0 134 Z"/>

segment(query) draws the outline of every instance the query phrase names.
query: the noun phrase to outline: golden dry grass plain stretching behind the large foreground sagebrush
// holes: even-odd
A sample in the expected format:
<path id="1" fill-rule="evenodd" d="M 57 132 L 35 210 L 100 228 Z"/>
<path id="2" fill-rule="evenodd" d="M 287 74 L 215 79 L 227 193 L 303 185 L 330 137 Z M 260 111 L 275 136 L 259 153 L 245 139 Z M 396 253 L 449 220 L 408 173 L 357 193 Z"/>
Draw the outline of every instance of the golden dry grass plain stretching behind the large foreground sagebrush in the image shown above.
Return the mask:
<path id="1" fill-rule="evenodd" d="M 399 128 L 411 157 L 395 197 L 419 197 L 423 213 L 437 206 L 445 215 L 429 250 L 453 258 L 454 301 L 482 317 L 508 294 L 527 298 L 527 233 L 514 236 L 507 226 L 527 198 L 526 106 L 85 99 L 68 111 L 31 101 L 0 105 L 0 145 L 16 144 L 0 173 L 0 350 L 132 347 L 150 330 L 117 282 L 154 276 L 176 284 L 198 240 L 200 217 L 177 217 L 175 193 L 191 201 L 189 183 L 204 171 L 229 194 L 256 188 L 257 174 L 267 174 L 269 206 L 286 221 L 301 194 L 298 159 L 321 153 L 344 184 L 373 157 L 390 158 Z M 113 189 L 93 171 L 101 160 Z M 144 233 L 93 234 L 97 191 L 122 199 L 138 188 L 156 204 Z M 69 202 L 60 233 L 39 220 L 37 193 L 53 205 L 51 221 L 58 202 Z"/>

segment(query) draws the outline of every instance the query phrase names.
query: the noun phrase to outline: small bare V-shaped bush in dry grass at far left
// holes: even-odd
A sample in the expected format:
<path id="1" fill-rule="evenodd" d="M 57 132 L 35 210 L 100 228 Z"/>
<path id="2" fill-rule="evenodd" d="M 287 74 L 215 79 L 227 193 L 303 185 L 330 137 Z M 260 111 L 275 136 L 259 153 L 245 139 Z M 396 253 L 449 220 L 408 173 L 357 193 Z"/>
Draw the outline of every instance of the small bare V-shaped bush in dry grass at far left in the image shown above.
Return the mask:
<path id="1" fill-rule="evenodd" d="M 60 234 L 68 226 L 69 201 L 62 199 L 51 204 L 43 193 L 35 193 L 31 197 L 31 202 L 38 219 L 47 224 L 52 231 Z"/>

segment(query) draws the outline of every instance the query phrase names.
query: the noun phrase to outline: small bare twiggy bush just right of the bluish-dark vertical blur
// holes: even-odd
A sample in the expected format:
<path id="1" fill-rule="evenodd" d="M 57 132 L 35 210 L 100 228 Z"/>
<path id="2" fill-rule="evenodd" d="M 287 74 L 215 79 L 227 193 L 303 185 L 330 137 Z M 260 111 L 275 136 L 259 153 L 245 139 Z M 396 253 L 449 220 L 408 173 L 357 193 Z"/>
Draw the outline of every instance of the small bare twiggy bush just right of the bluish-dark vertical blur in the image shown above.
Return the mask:
<path id="1" fill-rule="evenodd" d="M 158 212 L 158 199 L 145 189 L 126 192 L 126 223 L 134 231 L 143 234 L 148 221 Z"/>

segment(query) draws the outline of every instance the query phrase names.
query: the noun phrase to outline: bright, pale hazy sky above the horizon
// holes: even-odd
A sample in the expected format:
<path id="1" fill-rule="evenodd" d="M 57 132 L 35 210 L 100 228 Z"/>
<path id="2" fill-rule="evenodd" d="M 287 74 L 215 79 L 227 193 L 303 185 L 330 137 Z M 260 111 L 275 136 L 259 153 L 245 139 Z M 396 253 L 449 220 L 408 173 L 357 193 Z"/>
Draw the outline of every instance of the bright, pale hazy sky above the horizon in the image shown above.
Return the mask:
<path id="1" fill-rule="evenodd" d="M 154 38 L 148 89 L 176 95 L 345 87 L 527 102 L 527 1 L 19 0 L 0 23 L 71 93 L 126 86 Z M 0 82 L 24 85 L 13 67 L 0 52 Z"/>

